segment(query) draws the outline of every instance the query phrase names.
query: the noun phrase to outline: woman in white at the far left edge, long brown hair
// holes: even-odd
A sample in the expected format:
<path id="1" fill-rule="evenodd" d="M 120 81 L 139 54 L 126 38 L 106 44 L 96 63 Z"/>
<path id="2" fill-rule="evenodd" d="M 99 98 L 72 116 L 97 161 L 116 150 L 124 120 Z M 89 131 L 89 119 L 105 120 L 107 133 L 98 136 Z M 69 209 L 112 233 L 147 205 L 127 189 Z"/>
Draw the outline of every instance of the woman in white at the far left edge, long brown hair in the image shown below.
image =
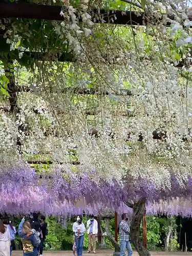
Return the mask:
<path id="1" fill-rule="evenodd" d="M 0 219 L 0 256 L 10 256 L 9 229 Z"/>

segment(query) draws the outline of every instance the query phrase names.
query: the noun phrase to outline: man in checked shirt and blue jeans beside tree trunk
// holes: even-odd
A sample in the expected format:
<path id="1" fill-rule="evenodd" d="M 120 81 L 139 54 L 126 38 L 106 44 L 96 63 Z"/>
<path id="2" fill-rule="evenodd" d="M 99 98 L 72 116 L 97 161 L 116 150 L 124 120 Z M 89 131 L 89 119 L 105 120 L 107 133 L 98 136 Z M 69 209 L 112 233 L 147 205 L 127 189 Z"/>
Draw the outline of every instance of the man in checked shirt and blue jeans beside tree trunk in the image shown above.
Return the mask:
<path id="1" fill-rule="evenodd" d="M 120 240 L 120 256 L 125 255 L 125 249 L 127 249 L 127 255 L 131 256 L 133 251 L 130 244 L 130 226 L 126 214 L 122 214 L 122 220 L 119 224 L 119 240 Z"/>

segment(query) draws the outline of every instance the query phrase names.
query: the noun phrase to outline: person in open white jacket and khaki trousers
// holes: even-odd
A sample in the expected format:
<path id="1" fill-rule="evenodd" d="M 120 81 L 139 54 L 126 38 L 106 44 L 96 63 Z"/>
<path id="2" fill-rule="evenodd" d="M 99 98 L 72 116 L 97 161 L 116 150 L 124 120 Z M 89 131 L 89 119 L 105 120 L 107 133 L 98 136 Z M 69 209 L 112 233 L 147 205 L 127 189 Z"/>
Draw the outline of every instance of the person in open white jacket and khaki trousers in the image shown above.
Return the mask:
<path id="1" fill-rule="evenodd" d="M 93 253 L 96 253 L 96 236 L 98 233 L 98 223 L 94 219 L 93 215 L 90 215 L 90 219 L 87 222 L 87 228 L 88 228 L 88 253 L 91 252 L 93 249 Z"/>

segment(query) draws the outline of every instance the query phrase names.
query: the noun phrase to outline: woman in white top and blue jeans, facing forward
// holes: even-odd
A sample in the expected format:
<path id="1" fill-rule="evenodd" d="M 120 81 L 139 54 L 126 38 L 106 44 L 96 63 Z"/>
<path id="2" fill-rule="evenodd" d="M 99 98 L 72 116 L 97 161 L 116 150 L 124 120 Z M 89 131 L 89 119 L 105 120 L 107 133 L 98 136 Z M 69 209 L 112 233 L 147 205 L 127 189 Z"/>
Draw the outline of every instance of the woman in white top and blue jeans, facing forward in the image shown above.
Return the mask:
<path id="1" fill-rule="evenodd" d="M 79 216 L 77 216 L 77 221 L 73 223 L 73 232 L 75 234 L 77 256 L 82 256 L 82 247 L 83 247 L 85 231 L 86 231 L 86 228 L 84 227 L 82 220 L 79 218 Z"/>

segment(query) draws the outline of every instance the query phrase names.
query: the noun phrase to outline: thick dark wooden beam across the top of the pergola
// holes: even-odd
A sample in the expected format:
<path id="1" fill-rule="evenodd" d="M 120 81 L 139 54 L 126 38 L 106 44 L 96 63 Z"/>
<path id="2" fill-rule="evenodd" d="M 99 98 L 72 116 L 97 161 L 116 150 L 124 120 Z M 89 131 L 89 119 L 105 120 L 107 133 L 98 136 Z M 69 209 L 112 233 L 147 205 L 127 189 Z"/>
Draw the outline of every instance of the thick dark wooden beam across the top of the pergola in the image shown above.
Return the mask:
<path id="1" fill-rule="evenodd" d="M 12 17 L 12 18 L 32 18 L 32 19 L 47 19 L 47 20 L 63 20 L 60 15 L 61 6 L 50 6 L 50 5 L 36 5 L 26 3 L 0 3 L 0 17 Z M 95 14 L 95 23 L 111 23 L 111 24 L 122 24 L 122 25 L 144 25 L 147 22 L 144 12 L 137 12 L 119 10 L 93 10 L 90 13 L 92 16 Z M 77 13 L 78 15 L 78 13 Z M 115 16 L 114 16 L 115 15 Z M 82 22 L 79 18 L 79 22 Z"/>

